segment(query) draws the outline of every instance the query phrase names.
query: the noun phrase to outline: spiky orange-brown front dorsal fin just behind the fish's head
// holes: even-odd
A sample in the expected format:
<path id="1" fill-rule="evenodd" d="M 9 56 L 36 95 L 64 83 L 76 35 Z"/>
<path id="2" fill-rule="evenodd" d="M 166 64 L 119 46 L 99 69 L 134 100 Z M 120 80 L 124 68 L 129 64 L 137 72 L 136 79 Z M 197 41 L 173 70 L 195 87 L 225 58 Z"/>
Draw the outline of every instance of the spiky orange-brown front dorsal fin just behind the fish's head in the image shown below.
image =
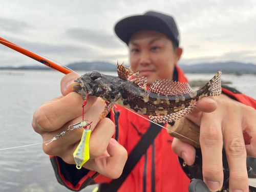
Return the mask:
<path id="1" fill-rule="evenodd" d="M 117 74 L 119 77 L 123 77 L 131 82 L 137 84 L 140 88 L 146 90 L 146 78 L 139 76 L 139 72 L 134 73 L 130 68 L 123 65 L 118 65 L 117 62 Z"/>

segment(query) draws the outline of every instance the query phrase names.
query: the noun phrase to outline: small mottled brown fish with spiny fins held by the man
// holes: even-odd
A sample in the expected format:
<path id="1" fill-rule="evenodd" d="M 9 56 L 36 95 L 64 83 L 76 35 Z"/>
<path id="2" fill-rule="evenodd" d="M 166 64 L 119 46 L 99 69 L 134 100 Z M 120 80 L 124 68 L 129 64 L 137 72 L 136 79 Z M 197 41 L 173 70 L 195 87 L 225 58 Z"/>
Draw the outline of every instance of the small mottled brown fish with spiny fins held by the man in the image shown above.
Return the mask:
<path id="1" fill-rule="evenodd" d="M 202 97 L 221 94 L 221 71 L 198 90 L 191 89 L 188 83 L 164 79 L 154 81 L 147 89 L 146 78 L 123 63 L 117 63 L 117 73 L 118 76 L 112 76 L 92 71 L 74 80 L 78 84 L 73 91 L 81 94 L 84 100 L 89 95 L 108 102 L 99 120 L 109 114 L 114 104 L 118 104 L 149 116 L 155 122 L 173 122 L 191 113 Z"/>

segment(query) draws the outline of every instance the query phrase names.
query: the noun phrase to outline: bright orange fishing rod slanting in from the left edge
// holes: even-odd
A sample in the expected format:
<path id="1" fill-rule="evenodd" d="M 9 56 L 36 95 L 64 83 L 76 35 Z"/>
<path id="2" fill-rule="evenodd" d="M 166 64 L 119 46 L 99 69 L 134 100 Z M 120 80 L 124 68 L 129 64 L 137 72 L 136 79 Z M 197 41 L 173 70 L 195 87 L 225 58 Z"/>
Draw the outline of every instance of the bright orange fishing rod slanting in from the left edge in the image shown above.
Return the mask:
<path id="1" fill-rule="evenodd" d="M 38 62 L 41 62 L 43 64 L 45 64 L 46 66 L 52 68 L 52 69 L 55 69 L 61 73 L 64 73 L 64 74 L 68 74 L 68 73 L 72 73 L 72 71 L 70 71 L 69 69 L 66 69 L 65 67 L 61 67 L 59 65 L 57 65 L 56 63 L 44 58 L 44 57 L 41 57 L 31 51 L 28 51 L 22 47 L 19 47 L 15 44 L 13 44 L 12 42 L 0 37 L 0 43 L 19 52 L 19 53 L 22 53 L 24 55 L 27 55 L 28 57 L 32 58 L 32 59 L 35 59 L 37 60 Z"/>

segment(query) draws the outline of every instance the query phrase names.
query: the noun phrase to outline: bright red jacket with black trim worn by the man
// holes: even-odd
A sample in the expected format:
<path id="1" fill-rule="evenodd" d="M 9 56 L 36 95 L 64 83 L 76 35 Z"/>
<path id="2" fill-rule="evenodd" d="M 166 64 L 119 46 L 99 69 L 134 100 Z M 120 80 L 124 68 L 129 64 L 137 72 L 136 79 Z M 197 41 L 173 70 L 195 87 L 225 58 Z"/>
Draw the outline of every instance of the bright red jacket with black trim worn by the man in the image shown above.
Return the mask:
<path id="1" fill-rule="evenodd" d="M 184 73 L 178 66 L 175 69 L 174 79 L 187 82 Z M 254 99 L 241 94 L 237 90 L 225 88 L 222 89 L 224 94 L 256 108 Z M 118 134 L 115 133 L 114 137 L 118 135 L 118 142 L 130 154 L 142 135 L 147 131 L 150 123 L 121 106 L 118 106 L 115 111 L 116 114 L 120 115 L 116 124 Z M 112 113 L 111 119 L 113 122 L 117 122 L 117 118 L 115 120 Z M 167 134 L 165 129 L 162 129 L 118 191 L 188 191 L 187 187 L 190 180 L 181 169 L 177 155 L 172 151 L 172 141 L 173 138 Z M 77 170 L 75 165 L 67 164 L 59 157 L 50 156 L 50 158 L 58 182 L 71 190 L 78 191 L 90 184 L 104 183 L 100 187 L 102 189 L 112 181 L 112 179 L 92 170 L 85 168 Z M 99 189 L 99 191 L 101 190 Z"/>

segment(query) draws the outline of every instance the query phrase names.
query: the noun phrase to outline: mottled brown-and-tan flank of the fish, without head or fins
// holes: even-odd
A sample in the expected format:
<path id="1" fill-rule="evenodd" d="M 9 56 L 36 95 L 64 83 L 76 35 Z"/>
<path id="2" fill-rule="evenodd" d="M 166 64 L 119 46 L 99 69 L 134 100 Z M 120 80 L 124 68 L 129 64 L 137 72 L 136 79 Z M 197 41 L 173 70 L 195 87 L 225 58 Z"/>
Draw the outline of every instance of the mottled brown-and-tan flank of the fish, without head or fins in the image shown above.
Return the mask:
<path id="1" fill-rule="evenodd" d="M 185 109 L 199 98 L 209 96 L 209 93 L 210 91 L 204 86 L 191 93 L 174 96 L 160 95 L 145 91 L 132 82 L 126 82 L 123 93 L 116 103 L 142 115 L 159 116 Z"/>

